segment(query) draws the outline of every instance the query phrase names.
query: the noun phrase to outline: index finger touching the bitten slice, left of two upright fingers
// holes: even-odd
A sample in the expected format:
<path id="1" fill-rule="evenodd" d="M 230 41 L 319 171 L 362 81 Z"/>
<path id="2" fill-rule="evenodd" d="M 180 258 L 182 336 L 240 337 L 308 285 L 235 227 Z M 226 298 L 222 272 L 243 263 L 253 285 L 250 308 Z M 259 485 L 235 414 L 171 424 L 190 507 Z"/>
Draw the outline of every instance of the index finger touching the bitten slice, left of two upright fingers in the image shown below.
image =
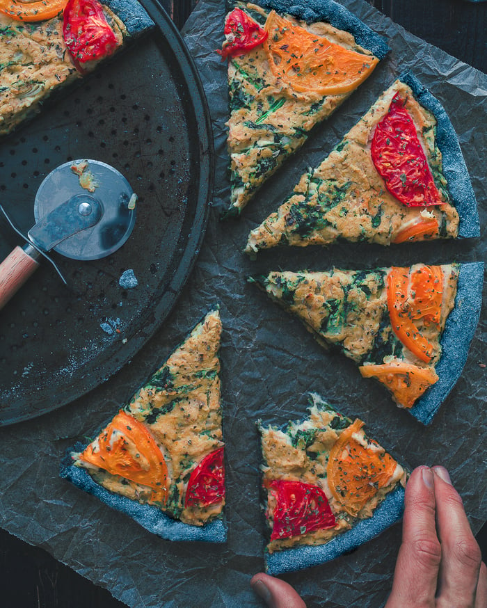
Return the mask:
<path id="1" fill-rule="evenodd" d="M 434 474 L 418 467 L 406 485 L 402 543 L 386 608 L 435 605 L 441 561 L 435 510 Z"/>

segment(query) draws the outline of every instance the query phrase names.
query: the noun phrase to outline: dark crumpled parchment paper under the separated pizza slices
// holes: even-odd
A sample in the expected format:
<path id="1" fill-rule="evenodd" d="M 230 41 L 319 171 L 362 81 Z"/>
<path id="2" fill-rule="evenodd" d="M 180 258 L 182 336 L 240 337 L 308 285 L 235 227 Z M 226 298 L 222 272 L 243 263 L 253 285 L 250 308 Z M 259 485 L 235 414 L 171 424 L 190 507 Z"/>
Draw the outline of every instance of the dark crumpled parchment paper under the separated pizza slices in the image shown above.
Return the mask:
<path id="1" fill-rule="evenodd" d="M 363 0 L 343 0 L 392 49 L 372 77 L 287 162 L 244 210 L 222 223 L 227 206 L 226 66 L 214 53 L 223 40 L 223 0 L 201 0 L 185 28 L 200 70 L 216 145 L 216 189 L 204 246 L 175 310 L 141 353 L 97 390 L 57 412 L 0 429 L 0 523 L 24 541 L 109 589 L 133 608 L 250 607 L 263 568 L 260 445 L 254 421 L 282 424 L 305 415 L 306 393 L 319 392 L 346 415 L 366 422 L 370 435 L 408 468 L 442 463 L 463 497 L 474 531 L 486 519 L 486 307 L 460 381 L 433 423 L 424 427 L 398 410 L 385 390 L 366 382 L 355 365 L 324 351 L 297 319 L 246 282 L 271 269 L 469 262 L 485 259 L 485 129 L 487 77 L 406 33 Z M 458 133 L 479 201 L 481 239 L 391 248 L 337 245 L 276 250 L 251 262 L 246 236 L 289 193 L 307 166 L 316 166 L 376 97 L 410 69 L 440 99 Z M 221 305 L 224 435 L 227 445 L 227 545 L 171 543 L 58 477 L 66 447 L 93 433 L 160 365 L 215 303 Z M 55 396 L 53 396 L 55 398 Z M 309 608 L 376 607 L 387 598 L 401 526 L 325 566 L 286 575 Z"/>

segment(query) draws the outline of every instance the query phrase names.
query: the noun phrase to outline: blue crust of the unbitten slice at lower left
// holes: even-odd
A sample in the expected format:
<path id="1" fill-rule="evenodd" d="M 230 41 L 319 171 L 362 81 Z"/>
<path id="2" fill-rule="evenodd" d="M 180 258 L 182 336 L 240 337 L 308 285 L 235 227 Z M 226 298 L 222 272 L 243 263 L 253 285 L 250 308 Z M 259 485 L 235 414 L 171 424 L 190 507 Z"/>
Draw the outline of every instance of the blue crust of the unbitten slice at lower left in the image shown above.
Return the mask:
<path id="1" fill-rule="evenodd" d="M 81 451 L 80 443 L 70 448 L 61 463 L 60 475 L 74 483 L 81 490 L 88 492 L 110 506 L 111 509 L 125 513 L 146 530 L 166 541 L 203 541 L 207 543 L 226 543 L 227 529 L 225 521 L 218 519 L 204 526 L 191 526 L 165 515 L 156 506 L 141 504 L 125 496 L 113 494 L 93 481 L 86 469 L 72 464 L 72 451 Z"/>

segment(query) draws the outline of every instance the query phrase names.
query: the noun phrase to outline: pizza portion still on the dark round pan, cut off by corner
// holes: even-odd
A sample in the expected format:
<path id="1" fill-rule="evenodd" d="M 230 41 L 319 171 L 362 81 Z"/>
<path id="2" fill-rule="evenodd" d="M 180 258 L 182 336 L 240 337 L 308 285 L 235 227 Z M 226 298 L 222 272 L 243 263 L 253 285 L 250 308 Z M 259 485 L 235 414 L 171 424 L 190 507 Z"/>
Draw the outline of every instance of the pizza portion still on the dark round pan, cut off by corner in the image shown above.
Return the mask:
<path id="1" fill-rule="evenodd" d="M 0 0 L 0 136 L 152 26 L 136 0 Z"/>

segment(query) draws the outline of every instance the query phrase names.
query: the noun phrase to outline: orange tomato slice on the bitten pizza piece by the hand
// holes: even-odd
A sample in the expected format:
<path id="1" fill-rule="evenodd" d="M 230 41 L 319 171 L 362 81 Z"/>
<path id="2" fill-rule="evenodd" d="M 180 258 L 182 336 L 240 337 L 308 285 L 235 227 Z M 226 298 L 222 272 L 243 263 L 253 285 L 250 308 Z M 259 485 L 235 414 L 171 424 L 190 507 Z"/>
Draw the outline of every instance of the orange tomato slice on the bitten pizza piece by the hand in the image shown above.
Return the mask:
<path id="1" fill-rule="evenodd" d="M 342 431 L 330 449 L 326 467 L 331 493 L 353 517 L 388 483 L 397 465 L 387 452 L 363 447 L 353 438 L 362 426 L 357 419 Z"/>

